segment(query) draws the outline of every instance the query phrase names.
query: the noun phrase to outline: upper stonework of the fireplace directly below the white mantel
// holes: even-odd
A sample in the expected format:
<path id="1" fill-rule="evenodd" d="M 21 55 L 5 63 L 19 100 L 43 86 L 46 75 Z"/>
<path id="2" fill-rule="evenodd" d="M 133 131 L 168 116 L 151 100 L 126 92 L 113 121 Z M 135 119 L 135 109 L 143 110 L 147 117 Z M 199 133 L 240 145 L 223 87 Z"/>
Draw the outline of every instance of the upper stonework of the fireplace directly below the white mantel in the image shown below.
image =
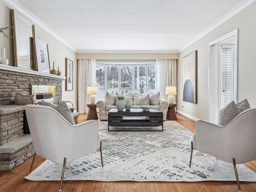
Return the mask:
<path id="1" fill-rule="evenodd" d="M 62 100 L 62 80 L 60 79 L 0 70 L 0 105 L 10 104 L 17 92 L 31 94 L 32 85 L 56 86 L 55 102 Z"/>

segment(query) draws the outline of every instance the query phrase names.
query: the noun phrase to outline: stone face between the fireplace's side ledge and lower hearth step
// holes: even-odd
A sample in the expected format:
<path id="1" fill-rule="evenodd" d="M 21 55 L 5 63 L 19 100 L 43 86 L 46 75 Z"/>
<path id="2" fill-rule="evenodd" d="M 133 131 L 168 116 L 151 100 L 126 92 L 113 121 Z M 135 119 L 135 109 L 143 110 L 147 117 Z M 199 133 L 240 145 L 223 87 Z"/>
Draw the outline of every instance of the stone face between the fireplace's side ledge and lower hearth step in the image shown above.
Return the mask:
<path id="1" fill-rule="evenodd" d="M 0 115 L 0 146 L 23 136 L 23 111 Z"/>

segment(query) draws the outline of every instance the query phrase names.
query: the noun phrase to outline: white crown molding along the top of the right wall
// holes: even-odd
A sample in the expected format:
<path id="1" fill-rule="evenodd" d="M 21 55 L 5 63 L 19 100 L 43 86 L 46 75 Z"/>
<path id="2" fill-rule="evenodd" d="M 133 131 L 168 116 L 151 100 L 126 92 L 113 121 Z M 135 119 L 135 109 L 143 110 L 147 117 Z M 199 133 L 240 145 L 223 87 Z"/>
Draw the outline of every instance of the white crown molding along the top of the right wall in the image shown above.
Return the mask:
<path id="1" fill-rule="evenodd" d="M 225 23 L 228 19 L 233 17 L 234 15 L 238 14 L 240 11 L 251 5 L 253 2 L 256 0 L 244 0 L 240 4 L 238 4 L 236 7 L 231 9 L 229 12 L 227 12 L 225 15 L 220 17 L 216 22 L 211 24 L 209 27 L 201 31 L 199 34 L 197 34 L 193 39 L 189 40 L 184 46 L 180 47 L 179 53 L 182 52 L 184 49 L 186 49 L 188 46 L 194 44 L 197 40 L 211 32 L 212 30 L 216 29 L 219 27 L 221 24 Z"/>

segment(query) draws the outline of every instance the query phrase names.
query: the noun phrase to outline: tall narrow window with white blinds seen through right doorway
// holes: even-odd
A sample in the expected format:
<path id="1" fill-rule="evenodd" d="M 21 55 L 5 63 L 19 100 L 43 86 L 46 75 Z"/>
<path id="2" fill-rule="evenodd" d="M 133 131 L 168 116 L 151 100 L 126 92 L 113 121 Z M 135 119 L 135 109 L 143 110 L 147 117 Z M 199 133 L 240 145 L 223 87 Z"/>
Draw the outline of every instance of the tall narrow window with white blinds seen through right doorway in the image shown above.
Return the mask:
<path id="1" fill-rule="evenodd" d="M 236 45 L 222 44 L 221 48 L 221 109 L 237 98 L 237 50 Z"/>

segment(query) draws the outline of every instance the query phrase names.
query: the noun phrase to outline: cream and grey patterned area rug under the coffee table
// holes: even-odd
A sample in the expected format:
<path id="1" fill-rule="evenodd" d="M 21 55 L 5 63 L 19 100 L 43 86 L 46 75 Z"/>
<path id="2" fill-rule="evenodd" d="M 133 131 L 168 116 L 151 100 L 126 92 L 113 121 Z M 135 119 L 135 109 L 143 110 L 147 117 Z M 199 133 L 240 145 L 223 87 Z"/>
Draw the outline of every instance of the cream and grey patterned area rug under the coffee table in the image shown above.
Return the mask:
<path id="1" fill-rule="evenodd" d="M 164 122 L 163 132 L 108 132 L 107 123 L 99 121 L 104 167 L 101 167 L 99 152 L 93 152 L 67 164 L 65 180 L 236 181 L 232 164 L 199 151 L 194 152 L 189 168 L 192 133 L 176 121 Z M 61 163 L 46 160 L 26 179 L 60 180 L 61 169 Z M 256 173 L 251 169 L 243 164 L 237 165 L 237 169 L 240 181 L 256 181 Z"/>

